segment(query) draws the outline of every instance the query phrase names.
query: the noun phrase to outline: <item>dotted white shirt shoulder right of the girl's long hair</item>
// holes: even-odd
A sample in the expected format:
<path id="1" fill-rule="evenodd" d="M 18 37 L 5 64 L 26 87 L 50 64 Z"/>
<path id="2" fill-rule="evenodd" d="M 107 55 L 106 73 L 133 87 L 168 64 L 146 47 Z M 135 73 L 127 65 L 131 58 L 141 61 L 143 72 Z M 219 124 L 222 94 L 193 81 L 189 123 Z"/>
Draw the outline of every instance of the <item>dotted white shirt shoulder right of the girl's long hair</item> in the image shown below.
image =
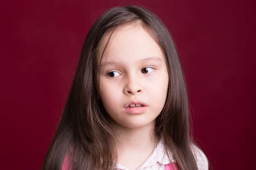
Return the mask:
<path id="1" fill-rule="evenodd" d="M 208 170 L 208 159 L 201 149 L 194 144 L 190 145 L 190 149 L 195 157 L 198 170 Z"/>

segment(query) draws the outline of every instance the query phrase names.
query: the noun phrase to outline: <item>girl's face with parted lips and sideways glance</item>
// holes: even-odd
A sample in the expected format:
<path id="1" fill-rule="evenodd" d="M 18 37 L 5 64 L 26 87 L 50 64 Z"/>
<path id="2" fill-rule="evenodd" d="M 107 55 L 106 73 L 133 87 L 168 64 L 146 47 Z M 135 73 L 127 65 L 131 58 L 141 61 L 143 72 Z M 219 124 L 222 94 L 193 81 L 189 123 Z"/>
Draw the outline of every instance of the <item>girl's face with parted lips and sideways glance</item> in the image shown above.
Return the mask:
<path id="1" fill-rule="evenodd" d="M 142 27 L 127 25 L 113 32 L 102 56 L 109 37 L 103 38 L 96 59 L 96 81 L 105 110 L 124 127 L 154 125 L 169 80 L 160 47 Z"/>

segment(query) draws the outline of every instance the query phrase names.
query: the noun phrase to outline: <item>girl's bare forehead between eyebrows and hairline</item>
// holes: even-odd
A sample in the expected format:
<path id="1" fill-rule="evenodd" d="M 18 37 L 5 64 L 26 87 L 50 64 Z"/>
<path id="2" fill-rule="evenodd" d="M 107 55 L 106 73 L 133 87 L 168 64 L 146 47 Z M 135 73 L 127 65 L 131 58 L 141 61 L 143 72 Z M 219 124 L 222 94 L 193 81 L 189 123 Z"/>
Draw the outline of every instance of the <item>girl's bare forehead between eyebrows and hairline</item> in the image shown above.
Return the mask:
<path id="1" fill-rule="evenodd" d="M 124 59 L 140 60 L 147 57 L 163 59 L 162 50 L 157 42 L 139 24 L 120 26 L 113 31 L 112 35 L 111 33 L 106 34 L 99 44 L 97 51 L 98 65 L 101 57 L 102 61 L 117 60 L 117 62 Z M 108 45 L 104 51 L 107 42 Z"/>

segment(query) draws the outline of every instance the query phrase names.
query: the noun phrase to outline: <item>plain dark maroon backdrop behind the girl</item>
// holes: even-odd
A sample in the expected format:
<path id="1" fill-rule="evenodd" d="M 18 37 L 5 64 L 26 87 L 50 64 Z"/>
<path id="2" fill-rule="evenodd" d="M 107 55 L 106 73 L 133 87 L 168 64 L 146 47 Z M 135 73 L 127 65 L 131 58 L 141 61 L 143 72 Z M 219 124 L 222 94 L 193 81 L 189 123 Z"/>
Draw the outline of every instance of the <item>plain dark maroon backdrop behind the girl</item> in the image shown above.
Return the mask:
<path id="1" fill-rule="evenodd" d="M 212 167 L 253 168 L 252 2 L 16 0 L 0 5 L 0 169 L 40 169 L 93 20 L 128 3 L 152 8 L 171 31 L 188 84 L 195 139 Z"/>

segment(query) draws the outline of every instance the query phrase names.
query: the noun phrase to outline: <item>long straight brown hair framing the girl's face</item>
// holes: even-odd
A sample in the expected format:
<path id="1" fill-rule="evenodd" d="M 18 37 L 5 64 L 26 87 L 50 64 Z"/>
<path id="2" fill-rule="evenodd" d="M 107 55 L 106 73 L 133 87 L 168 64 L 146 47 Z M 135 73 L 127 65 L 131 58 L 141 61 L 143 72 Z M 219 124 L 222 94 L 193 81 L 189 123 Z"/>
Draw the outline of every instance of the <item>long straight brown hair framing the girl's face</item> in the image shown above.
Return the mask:
<path id="1" fill-rule="evenodd" d="M 60 170 L 69 153 L 72 170 L 110 170 L 117 153 L 115 133 L 97 93 L 95 58 L 105 36 L 116 27 L 140 23 L 154 38 L 166 57 L 169 87 L 166 103 L 156 119 L 155 132 L 163 137 L 180 170 L 197 170 L 189 144 L 189 104 L 184 75 L 175 44 L 160 19 L 140 6 L 114 7 L 106 11 L 88 32 L 81 51 L 73 84 L 58 123 L 56 133 L 42 165 L 42 170 Z"/>

